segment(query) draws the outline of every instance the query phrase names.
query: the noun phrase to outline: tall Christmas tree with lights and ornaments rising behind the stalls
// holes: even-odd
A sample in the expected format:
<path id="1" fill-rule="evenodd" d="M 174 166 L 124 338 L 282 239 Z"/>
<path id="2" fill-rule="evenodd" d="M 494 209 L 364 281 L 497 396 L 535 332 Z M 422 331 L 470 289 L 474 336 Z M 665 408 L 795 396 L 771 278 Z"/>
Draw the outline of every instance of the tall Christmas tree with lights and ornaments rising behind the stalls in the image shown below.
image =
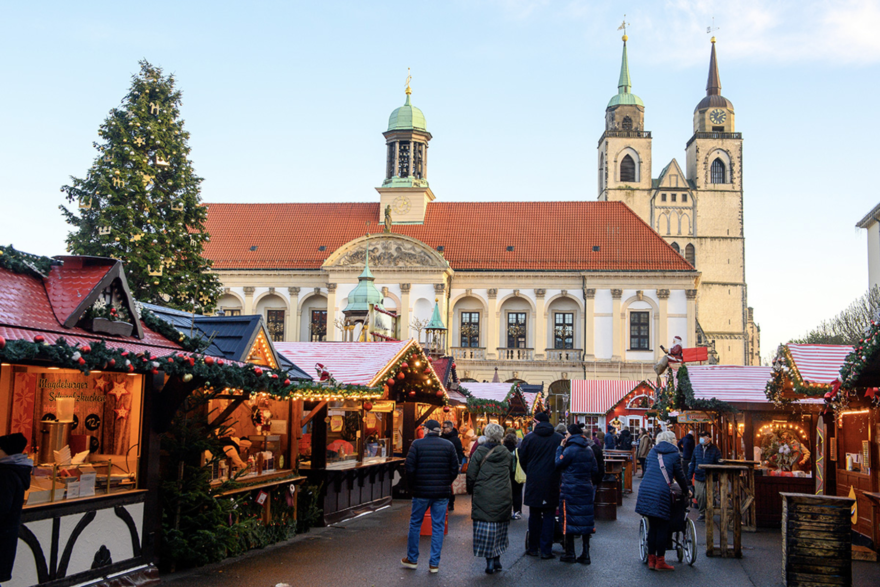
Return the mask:
<path id="1" fill-rule="evenodd" d="M 202 257 L 207 211 L 200 204 L 202 178 L 187 158 L 181 93 L 173 76 L 146 61 L 140 66 L 121 106 L 99 128 L 92 167 L 62 187 L 78 207 L 60 206 L 75 227 L 68 250 L 123 261 L 138 299 L 210 310 L 220 282 Z"/>

